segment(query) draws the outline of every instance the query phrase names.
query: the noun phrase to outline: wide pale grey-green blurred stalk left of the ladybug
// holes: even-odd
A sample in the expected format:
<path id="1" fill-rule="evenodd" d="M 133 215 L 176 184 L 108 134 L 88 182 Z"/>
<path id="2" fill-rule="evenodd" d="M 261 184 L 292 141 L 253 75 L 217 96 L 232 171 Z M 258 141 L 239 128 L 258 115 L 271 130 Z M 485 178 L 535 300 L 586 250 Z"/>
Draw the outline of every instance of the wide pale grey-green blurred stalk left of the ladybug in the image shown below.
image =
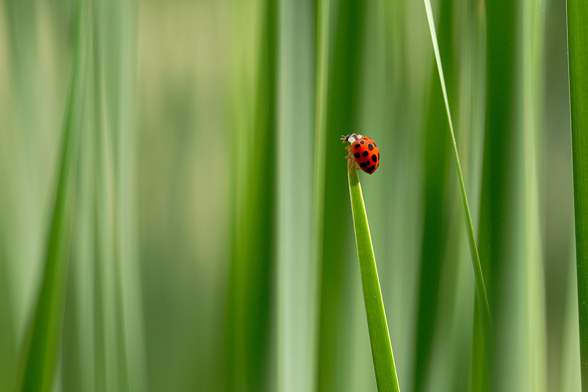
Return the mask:
<path id="1" fill-rule="evenodd" d="M 309 391 L 316 386 L 318 330 L 312 257 L 315 151 L 305 143 L 313 140 L 315 117 L 310 99 L 315 90 L 315 4 L 278 4 L 277 390 Z"/>

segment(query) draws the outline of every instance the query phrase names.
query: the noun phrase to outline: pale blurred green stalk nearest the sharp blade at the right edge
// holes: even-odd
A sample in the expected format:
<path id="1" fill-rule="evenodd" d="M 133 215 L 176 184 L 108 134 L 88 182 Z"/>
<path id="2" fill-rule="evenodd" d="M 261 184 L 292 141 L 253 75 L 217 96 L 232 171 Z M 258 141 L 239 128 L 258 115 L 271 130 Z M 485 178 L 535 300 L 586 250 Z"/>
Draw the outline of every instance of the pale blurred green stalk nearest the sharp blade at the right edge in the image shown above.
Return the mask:
<path id="1" fill-rule="evenodd" d="M 543 24 L 542 5 L 533 0 L 523 2 L 522 27 L 522 192 L 519 203 L 523 216 L 519 222 L 522 236 L 520 250 L 520 287 L 524 311 L 524 389 L 547 390 L 547 336 L 543 257 L 539 233 L 539 183 L 537 148 L 543 125 Z M 513 324 L 513 326 L 516 324 Z"/>

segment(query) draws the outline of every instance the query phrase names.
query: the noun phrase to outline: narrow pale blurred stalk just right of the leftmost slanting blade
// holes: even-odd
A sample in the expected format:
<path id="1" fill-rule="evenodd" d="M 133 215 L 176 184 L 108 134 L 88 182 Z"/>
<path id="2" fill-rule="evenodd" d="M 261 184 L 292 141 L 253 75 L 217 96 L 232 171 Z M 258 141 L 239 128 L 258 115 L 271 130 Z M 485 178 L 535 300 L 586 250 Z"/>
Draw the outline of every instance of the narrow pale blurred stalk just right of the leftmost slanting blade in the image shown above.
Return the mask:
<path id="1" fill-rule="evenodd" d="M 105 18 L 116 20 L 112 10 L 107 12 L 105 2 L 94 2 L 93 16 L 93 92 L 95 106 L 95 388 L 96 391 L 118 390 L 119 379 L 126 373 L 118 367 L 118 312 L 116 309 L 115 273 L 115 198 L 113 160 L 113 118 L 110 102 L 112 95 L 106 80 L 109 42 L 106 37 Z M 108 16 L 107 16 L 108 15 Z M 115 31 L 113 26 L 109 28 Z M 123 374 L 119 374 L 122 371 Z"/>

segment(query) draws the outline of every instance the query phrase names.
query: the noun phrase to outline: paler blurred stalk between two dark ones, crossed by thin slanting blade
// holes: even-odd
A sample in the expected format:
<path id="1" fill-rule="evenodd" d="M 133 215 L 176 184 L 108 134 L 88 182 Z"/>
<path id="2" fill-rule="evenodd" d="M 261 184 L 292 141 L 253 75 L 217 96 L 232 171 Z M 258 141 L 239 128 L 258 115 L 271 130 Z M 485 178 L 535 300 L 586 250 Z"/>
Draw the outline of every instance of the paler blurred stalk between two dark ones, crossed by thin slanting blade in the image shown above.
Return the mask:
<path id="1" fill-rule="evenodd" d="M 463 175 L 467 181 L 467 195 L 470 196 L 470 212 L 474 232 L 479 227 L 480 190 L 482 184 L 482 161 L 484 149 L 484 102 L 485 102 L 485 24 L 483 7 L 479 2 L 462 1 L 455 5 L 457 21 L 452 28 L 453 37 L 460 40 L 459 45 L 459 130 L 460 148 L 468 153 L 465 158 Z M 465 33 L 472 32 L 472 33 Z M 457 200 L 456 200 L 457 201 Z M 459 200 L 460 204 L 461 201 Z M 459 226 L 456 232 L 459 233 Z M 467 237 L 460 236 L 459 262 L 455 285 L 455 303 L 452 315 L 451 340 L 449 343 L 450 358 L 453 359 L 450 374 L 452 384 L 447 390 L 482 391 L 488 379 L 482 377 L 487 364 L 476 359 L 479 367 L 477 373 L 465 371 L 474 369 L 474 357 L 485 356 L 483 333 L 480 329 L 477 301 L 472 293 L 475 286 L 470 272 L 470 252 Z M 474 319 L 477 319 L 474 321 Z M 475 330 L 477 328 L 477 331 Z M 474 331 L 474 333 L 472 333 Z M 476 352 L 474 352 L 476 350 Z M 474 387 L 475 386 L 475 387 Z M 487 387 L 488 388 L 488 387 Z"/>

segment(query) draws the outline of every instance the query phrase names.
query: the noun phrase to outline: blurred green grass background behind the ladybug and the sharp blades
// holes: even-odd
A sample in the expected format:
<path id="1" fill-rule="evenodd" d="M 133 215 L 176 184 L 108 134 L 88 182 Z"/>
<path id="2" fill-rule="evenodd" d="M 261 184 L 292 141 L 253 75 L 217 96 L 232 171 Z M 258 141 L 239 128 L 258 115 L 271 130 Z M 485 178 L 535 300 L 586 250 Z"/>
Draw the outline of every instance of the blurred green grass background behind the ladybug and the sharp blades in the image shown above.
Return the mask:
<path id="1" fill-rule="evenodd" d="M 74 63 L 52 390 L 375 390 L 352 132 L 382 155 L 360 180 L 400 390 L 579 390 L 566 4 L 432 3 L 489 361 L 422 2 L 92 0 L 75 52 L 81 2 L 4 0 L 0 391 L 45 270 Z"/>

